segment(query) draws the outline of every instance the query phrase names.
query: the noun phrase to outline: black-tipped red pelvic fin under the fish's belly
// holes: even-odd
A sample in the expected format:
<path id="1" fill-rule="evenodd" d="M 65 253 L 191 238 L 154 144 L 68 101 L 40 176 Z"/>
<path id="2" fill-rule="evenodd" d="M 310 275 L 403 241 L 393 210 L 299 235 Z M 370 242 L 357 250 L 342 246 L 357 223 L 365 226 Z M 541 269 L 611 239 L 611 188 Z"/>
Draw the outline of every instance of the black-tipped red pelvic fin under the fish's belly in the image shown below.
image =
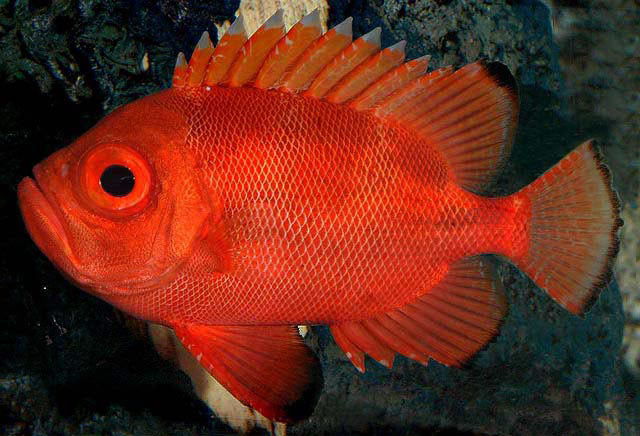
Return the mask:
<path id="1" fill-rule="evenodd" d="M 296 326 L 172 327 L 209 374 L 265 417 L 294 422 L 313 411 L 322 372 Z"/>

